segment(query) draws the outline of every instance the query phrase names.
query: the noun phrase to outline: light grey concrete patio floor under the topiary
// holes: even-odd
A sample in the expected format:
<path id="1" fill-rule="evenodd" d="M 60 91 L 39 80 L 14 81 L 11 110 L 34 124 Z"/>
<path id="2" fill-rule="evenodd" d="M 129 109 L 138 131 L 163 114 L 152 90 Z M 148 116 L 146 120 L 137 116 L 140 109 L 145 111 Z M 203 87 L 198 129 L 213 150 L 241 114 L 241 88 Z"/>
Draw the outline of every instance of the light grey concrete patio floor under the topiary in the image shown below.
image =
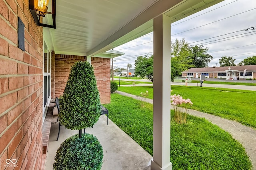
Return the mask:
<path id="1" fill-rule="evenodd" d="M 54 107 L 52 122 L 56 122 L 57 113 L 57 108 Z M 59 124 L 53 123 L 50 130 L 45 170 L 52 170 L 55 154 L 60 144 L 68 137 L 78 133 L 76 130 L 61 126 L 60 137 L 56 141 L 58 129 Z M 106 115 L 101 115 L 93 128 L 86 129 L 86 133 L 96 136 L 103 147 L 102 170 L 150 170 L 152 156 L 110 119 L 108 119 L 107 125 Z"/>

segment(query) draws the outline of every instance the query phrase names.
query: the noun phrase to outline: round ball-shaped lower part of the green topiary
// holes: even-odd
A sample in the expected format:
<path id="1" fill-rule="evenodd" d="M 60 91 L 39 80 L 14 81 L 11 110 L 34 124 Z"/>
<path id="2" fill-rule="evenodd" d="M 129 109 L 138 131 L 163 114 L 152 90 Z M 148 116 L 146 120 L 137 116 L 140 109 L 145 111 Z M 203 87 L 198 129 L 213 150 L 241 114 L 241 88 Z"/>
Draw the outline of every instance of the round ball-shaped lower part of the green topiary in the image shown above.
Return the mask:
<path id="1" fill-rule="evenodd" d="M 82 138 L 73 135 L 57 150 L 54 170 L 100 170 L 103 150 L 96 137 L 83 133 Z"/>

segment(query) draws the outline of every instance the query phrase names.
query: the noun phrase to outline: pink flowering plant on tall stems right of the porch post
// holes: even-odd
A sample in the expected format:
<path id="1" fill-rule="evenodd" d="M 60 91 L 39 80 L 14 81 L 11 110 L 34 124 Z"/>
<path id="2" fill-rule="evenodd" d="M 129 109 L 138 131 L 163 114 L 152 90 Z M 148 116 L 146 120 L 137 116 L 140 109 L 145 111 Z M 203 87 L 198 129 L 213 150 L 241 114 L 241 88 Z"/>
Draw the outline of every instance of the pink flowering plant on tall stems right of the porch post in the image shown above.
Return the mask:
<path id="1" fill-rule="evenodd" d="M 171 104 L 174 108 L 174 119 L 177 123 L 186 123 L 186 117 L 188 114 L 188 106 L 192 106 L 190 99 L 183 99 L 180 95 L 171 96 Z"/>

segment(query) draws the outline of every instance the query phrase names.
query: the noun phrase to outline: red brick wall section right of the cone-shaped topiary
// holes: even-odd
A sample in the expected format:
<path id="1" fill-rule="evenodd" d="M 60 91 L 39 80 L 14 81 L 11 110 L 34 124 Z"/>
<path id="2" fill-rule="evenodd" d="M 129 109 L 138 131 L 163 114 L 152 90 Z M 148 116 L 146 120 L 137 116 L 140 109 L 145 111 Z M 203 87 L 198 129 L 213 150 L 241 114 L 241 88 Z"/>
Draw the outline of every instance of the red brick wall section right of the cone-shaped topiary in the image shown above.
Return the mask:
<path id="1" fill-rule="evenodd" d="M 101 104 L 110 103 L 110 59 L 92 57 Z"/>

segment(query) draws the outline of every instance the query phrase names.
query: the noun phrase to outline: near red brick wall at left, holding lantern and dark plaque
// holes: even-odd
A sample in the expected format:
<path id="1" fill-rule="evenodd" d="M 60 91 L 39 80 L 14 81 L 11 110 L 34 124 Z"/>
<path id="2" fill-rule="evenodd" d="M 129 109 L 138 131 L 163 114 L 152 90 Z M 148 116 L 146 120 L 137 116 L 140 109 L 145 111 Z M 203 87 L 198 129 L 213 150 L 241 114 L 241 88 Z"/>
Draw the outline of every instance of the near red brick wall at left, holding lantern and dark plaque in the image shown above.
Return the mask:
<path id="1" fill-rule="evenodd" d="M 18 17 L 25 51 L 18 48 Z M 0 0 L 0 169 L 42 170 L 42 27 L 28 0 Z M 6 168 L 6 159 L 18 167 Z"/>

